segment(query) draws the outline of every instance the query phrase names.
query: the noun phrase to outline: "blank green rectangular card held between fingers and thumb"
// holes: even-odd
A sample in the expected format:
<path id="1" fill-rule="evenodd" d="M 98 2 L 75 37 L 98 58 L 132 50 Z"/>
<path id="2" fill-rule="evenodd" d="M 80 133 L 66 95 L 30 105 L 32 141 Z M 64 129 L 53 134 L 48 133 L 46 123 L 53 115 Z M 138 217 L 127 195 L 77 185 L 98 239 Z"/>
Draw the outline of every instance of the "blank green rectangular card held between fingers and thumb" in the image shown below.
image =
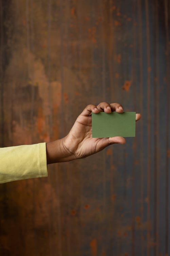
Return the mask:
<path id="1" fill-rule="evenodd" d="M 136 112 L 91 113 L 92 138 L 135 137 Z"/>

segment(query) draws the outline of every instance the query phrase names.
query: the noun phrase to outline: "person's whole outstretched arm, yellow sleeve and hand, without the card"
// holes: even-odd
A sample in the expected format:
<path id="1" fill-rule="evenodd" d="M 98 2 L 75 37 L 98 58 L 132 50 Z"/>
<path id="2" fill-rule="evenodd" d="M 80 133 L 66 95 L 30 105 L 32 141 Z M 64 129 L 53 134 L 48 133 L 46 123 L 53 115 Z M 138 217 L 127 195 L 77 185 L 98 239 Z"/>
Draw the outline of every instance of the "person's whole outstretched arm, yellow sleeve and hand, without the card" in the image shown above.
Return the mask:
<path id="1" fill-rule="evenodd" d="M 108 107 L 108 108 L 107 108 Z M 108 145 L 124 144 L 123 137 L 92 138 L 91 112 L 123 112 L 118 103 L 106 102 L 88 105 L 76 119 L 66 137 L 49 143 L 19 145 L 0 148 L 0 183 L 47 177 L 47 165 L 85 158 L 95 154 Z M 136 120 L 140 114 L 136 114 Z"/>

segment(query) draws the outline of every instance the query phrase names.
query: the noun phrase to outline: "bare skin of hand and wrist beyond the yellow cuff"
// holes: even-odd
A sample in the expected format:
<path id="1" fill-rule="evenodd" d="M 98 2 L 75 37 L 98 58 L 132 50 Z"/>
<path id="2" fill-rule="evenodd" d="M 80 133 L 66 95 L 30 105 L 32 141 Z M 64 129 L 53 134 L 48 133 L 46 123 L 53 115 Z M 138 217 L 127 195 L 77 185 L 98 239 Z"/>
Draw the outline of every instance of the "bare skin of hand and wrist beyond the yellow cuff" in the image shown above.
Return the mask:
<path id="1" fill-rule="evenodd" d="M 119 143 L 125 144 L 123 137 L 92 138 L 91 112 L 111 113 L 116 111 L 123 113 L 123 107 L 119 103 L 101 102 L 99 105 L 87 105 L 83 112 L 75 120 L 71 130 L 62 139 L 46 143 L 47 164 L 67 162 L 93 155 L 105 147 Z M 136 121 L 141 114 L 136 114 Z"/>

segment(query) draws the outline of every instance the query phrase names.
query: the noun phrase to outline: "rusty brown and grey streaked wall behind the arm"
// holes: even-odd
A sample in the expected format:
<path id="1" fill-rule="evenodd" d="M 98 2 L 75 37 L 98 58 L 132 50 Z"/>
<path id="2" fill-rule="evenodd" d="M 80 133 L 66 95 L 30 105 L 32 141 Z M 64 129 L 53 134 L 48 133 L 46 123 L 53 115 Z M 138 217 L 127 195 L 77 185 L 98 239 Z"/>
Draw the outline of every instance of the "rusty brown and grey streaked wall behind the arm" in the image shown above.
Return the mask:
<path id="1" fill-rule="evenodd" d="M 136 138 L 0 185 L 0 255 L 170 255 L 170 1 L 0 0 L 0 146 L 67 135 L 87 104 Z"/>

